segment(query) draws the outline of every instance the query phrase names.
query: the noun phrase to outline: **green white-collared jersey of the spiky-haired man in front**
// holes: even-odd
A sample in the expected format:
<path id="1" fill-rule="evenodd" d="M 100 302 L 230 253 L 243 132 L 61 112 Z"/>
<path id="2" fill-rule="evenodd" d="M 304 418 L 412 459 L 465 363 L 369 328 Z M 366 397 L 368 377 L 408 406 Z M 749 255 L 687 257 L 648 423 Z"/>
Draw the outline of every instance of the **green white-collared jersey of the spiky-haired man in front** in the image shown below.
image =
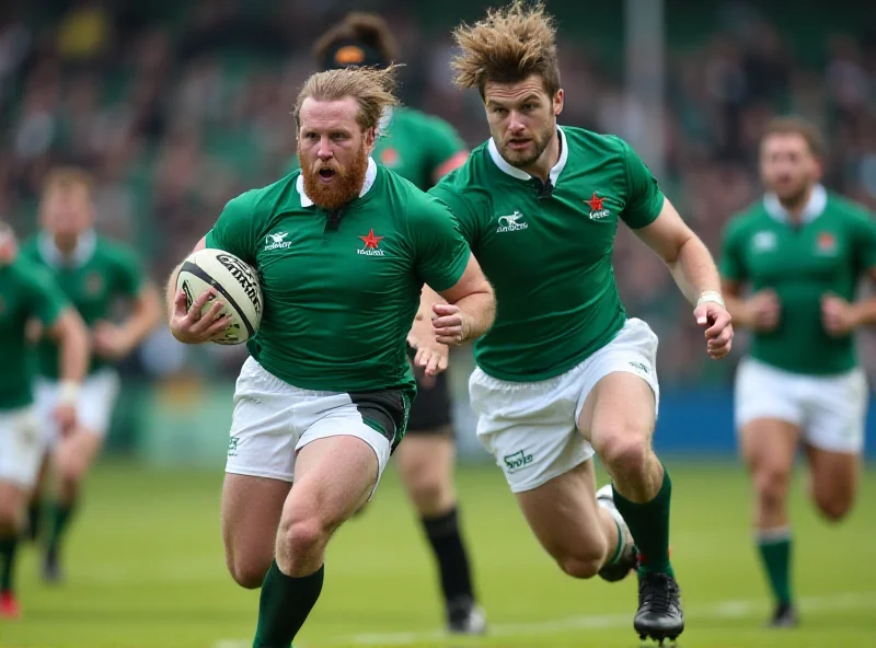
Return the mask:
<path id="1" fill-rule="evenodd" d="M 475 361 L 509 381 L 546 380 L 606 346 L 623 327 L 611 255 L 618 220 L 643 228 L 664 195 L 614 136 L 558 129 L 561 155 L 541 181 L 508 164 L 489 139 L 429 193 L 446 202 L 496 292 L 496 322 Z"/>

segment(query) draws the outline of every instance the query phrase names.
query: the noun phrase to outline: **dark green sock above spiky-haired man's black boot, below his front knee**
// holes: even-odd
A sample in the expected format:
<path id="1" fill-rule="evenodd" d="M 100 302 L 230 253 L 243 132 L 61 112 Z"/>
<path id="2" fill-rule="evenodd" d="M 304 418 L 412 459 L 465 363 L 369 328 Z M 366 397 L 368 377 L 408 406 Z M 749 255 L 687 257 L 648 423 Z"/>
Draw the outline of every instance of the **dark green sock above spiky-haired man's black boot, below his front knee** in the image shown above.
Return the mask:
<path id="1" fill-rule="evenodd" d="M 657 496 L 648 502 L 635 504 L 614 490 L 614 506 L 623 516 L 642 555 L 639 574 L 662 572 L 675 577 L 669 563 L 669 500 L 672 482 L 664 466 L 664 483 Z"/>

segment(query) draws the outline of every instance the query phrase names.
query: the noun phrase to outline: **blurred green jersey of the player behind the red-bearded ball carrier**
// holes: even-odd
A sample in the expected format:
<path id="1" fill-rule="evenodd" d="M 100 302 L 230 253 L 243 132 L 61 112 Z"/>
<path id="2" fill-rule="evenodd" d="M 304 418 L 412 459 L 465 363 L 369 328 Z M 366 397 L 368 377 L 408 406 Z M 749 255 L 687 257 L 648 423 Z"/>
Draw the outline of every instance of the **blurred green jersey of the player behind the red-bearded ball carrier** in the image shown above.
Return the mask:
<path id="1" fill-rule="evenodd" d="M 374 143 L 374 161 L 410 180 L 424 192 L 435 184 L 435 172 L 465 144 L 450 124 L 413 108 L 393 108 L 384 135 Z M 298 157 L 289 170 L 298 170 Z"/>

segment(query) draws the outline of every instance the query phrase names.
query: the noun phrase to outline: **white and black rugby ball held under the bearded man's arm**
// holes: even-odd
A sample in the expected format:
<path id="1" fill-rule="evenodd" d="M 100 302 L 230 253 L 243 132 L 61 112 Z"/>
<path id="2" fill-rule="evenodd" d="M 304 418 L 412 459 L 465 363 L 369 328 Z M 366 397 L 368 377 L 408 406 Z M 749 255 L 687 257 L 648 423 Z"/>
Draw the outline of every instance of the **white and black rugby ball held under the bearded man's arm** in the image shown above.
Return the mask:
<path id="1" fill-rule="evenodd" d="M 176 277 L 176 288 L 185 292 L 189 309 L 210 288 L 217 293 L 214 299 L 224 302 L 221 312 L 230 315 L 231 322 L 217 344 L 243 344 L 258 331 L 264 305 L 258 274 L 230 252 L 207 247 L 188 255 Z M 211 303 L 212 300 L 208 301 L 201 312 L 207 312 Z"/>

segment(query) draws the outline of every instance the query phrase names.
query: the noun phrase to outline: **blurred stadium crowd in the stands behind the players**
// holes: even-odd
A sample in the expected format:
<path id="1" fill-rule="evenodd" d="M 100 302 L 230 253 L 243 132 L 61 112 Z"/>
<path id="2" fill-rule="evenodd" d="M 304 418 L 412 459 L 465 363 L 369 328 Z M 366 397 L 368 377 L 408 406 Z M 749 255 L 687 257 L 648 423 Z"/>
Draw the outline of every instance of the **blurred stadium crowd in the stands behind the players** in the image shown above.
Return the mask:
<path id="1" fill-rule="evenodd" d="M 229 198 L 285 173 L 295 154 L 289 111 L 314 69 L 312 40 L 354 7 L 379 11 L 393 25 L 406 63 L 404 102 L 447 118 L 470 146 L 483 141 L 480 99 L 450 84 L 447 65 L 449 28 L 482 4 L 3 2 L 0 213 L 21 234 L 32 232 L 47 170 L 81 164 L 96 180 L 100 229 L 132 242 L 163 282 Z M 624 94 L 622 3 L 593 9 L 588 21 L 576 4 L 550 2 L 564 37 L 562 123 L 635 143 L 647 106 Z M 667 0 L 676 13 L 679 4 Z M 659 180 L 710 247 L 717 254 L 728 217 L 758 198 L 757 142 L 776 112 L 815 120 L 828 135 L 828 186 L 876 208 L 876 22 L 846 15 L 857 33 L 843 30 L 807 46 L 804 23 L 817 23 L 820 12 L 795 24 L 752 9 L 770 3 L 702 4 L 712 5 L 712 28 L 689 15 L 698 37 L 682 45 L 668 38 Z M 454 13 L 457 7 L 464 9 Z M 823 24 L 815 26 L 823 33 Z M 597 47 L 612 28 L 613 49 Z M 660 335 L 661 381 L 726 381 L 733 364 L 712 364 L 690 344 L 700 334 L 669 274 L 626 233 L 615 268 L 631 314 Z M 873 370 L 867 360 L 876 360 L 876 345 L 865 340 L 863 350 Z M 125 369 L 166 374 L 197 367 L 232 377 L 242 352 L 183 349 L 159 332 Z"/>

